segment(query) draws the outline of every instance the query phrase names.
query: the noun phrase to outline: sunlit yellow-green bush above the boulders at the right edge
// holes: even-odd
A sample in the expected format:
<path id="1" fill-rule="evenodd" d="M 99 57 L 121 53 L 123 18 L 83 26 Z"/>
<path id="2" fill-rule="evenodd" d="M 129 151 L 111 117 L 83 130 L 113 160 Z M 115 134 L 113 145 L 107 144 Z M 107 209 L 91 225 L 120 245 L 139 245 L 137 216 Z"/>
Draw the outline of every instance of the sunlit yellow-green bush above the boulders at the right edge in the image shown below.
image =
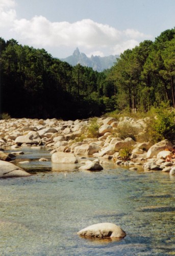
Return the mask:
<path id="1" fill-rule="evenodd" d="M 164 139 L 173 141 L 175 138 L 175 110 L 168 104 L 162 104 L 152 111 L 156 118 L 149 121 L 147 125 L 147 133 L 151 142 L 156 143 Z"/>

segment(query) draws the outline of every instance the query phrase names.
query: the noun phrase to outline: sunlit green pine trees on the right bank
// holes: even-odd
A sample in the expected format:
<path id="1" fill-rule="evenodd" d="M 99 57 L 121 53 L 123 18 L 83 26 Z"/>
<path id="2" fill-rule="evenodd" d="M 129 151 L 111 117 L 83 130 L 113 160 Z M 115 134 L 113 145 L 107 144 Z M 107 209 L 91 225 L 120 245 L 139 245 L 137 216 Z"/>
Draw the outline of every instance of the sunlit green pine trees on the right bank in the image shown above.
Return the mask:
<path id="1" fill-rule="evenodd" d="M 126 50 L 110 70 L 117 90 L 117 108 L 148 111 L 169 101 L 175 107 L 175 29 L 166 30 L 155 41 L 145 40 Z"/>

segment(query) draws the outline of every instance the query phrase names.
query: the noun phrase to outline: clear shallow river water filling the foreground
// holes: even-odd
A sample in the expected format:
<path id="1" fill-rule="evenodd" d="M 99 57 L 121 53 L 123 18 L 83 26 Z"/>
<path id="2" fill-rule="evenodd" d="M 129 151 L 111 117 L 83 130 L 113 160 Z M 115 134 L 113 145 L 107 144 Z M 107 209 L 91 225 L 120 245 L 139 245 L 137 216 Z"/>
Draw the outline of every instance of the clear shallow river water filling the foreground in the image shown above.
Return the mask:
<path id="1" fill-rule="evenodd" d="M 0 255 L 175 255 L 175 179 L 104 165 L 39 162 L 48 151 L 23 149 L 20 165 L 33 176 L 0 179 Z M 77 232 L 112 222 L 121 240 L 84 239 Z"/>

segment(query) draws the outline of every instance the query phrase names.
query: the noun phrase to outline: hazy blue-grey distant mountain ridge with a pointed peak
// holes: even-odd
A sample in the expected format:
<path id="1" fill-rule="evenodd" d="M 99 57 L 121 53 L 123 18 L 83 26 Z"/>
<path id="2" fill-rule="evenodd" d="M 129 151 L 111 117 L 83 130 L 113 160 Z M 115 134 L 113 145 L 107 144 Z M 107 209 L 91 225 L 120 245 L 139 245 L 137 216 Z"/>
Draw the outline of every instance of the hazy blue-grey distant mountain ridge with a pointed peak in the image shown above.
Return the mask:
<path id="1" fill-rule="evenodd" d="M 86 56 L 85 53 L 81 53 L 79 48 L 74 50 L 71 56 L 60 59 L 62 61 L 68 62 L 72 66 L 80 65 L 85 67 L 91 67 L 93 70 L 102 72 L 105 69 L 110 69 L 116 62 L 116 58 L 119 58 L 119 55 L 110 55 L 107 57 L 100 56 L 91 56 L 90 58 Z"/>

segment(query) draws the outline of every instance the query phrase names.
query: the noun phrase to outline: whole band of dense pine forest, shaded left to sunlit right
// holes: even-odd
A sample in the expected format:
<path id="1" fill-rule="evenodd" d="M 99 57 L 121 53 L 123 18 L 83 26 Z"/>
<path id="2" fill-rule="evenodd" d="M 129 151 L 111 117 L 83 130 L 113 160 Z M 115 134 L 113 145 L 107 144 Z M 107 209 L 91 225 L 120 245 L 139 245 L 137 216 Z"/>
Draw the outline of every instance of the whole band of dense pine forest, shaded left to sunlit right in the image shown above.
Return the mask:
<path id="1" fill-rule="evenodd" d="M 175 107 L 175 29 L 124 51 L 110 70 L 70 66 L 44 49 L 0 38 L 1 113 L 77 119 L 106 112 Z"/>

